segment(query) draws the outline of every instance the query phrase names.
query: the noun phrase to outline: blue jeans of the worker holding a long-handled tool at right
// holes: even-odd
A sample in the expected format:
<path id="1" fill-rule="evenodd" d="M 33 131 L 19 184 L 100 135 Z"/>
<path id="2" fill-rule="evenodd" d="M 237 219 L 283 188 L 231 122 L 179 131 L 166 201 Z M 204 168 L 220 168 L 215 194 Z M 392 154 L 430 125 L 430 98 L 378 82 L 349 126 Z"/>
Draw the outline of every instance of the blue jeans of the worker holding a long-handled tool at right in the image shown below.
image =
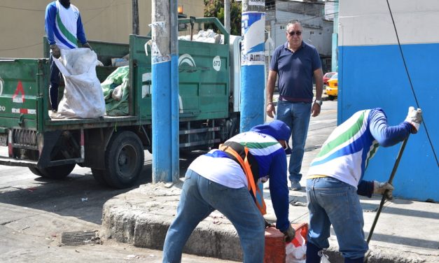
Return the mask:
<path id="1" fill-rule="evenodd" d="M 308 179 L 307 201 L 309 242 L 328 248 L 332 224 L 343 257 L 364 257 L 368 243 L 364 240 L 363 211 L 355 187 L 330 177 Z"/>

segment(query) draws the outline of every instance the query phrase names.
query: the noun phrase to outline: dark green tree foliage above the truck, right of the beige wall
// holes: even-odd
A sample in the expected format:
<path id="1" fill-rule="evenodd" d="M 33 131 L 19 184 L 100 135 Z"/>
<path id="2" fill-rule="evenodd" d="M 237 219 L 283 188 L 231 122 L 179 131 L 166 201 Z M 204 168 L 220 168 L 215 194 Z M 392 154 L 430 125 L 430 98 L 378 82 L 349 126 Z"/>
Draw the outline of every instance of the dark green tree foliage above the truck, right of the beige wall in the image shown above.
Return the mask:
<path id="1" fill-rule="evenodd" d="M 217 17 L 224 24 L 224 0 L 204 0 L 204 17 Z M 241 3 L 230 0 L 230 34 L 241 36 Z"/>

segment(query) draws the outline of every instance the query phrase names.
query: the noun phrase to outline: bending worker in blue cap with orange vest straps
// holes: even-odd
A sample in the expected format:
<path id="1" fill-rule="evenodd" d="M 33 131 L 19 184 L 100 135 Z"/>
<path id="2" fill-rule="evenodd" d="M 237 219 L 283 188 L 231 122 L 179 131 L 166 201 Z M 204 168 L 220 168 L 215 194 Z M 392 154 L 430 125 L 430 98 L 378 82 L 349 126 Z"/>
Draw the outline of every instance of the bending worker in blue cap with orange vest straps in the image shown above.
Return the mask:
<path id="1" fill-rule="evenodd" d="M 276 227 L 291 241 L 288 220 L 286 153 L 290 128 L 280 120 L 233 136 L 218 149 L 197 157 L 188 167 L 177 208 L 163 246 L 163 262 L 181 262 L 183 246 L 198 223 L 215 210 L 235 226 L 244 262 L 262 263 L 265 204 L 256 198 L 258 183 L 270 178 Z"/>

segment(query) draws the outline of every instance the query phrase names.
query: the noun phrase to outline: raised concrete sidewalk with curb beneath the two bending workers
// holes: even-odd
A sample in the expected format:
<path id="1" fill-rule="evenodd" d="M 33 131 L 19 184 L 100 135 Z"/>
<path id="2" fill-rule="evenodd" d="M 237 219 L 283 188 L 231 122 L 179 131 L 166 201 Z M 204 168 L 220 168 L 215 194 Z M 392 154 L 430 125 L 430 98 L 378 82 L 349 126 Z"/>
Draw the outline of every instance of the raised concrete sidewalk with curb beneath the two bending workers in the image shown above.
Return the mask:
<path id="1" fill-rule="evenodd" d="M 302 171 L 319 150 L 305 152 Z M 305 185 L 305 180 L 300 182 Z M 120 194 L 104 204 L 102 232 L 115 239 L 143 248 L 162 249 L 167 228 L 174 219 L 182 181 L 176 184 L 141 185 Z M 270 192 L 264 190 L 267 220 L 275 220 Z M 375 218 L 379 197 L 363 198 L 365 236 Z M 290 191 L 289 218 L 293 223 L 307 222 L 306 193 Z M 327 254 L 331 263 L 342 262 L 337 241 L 331 229 Z M 370 241 L 369 262 L 439 262 L 439 205 L 405 199 L 386 202 Z M 242 261 L 239 239 L 234 227 L 215 211 L 193 232 L 184 253 Z"/>

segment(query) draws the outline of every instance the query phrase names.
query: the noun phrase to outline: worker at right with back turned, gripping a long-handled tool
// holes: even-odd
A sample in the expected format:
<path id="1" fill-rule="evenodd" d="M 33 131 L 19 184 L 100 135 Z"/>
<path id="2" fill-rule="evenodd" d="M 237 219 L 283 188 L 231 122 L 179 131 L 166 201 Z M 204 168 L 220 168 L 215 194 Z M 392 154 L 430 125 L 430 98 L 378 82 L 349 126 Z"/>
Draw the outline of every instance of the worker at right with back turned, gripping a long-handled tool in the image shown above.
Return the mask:
<path id="1" fill-rule="evenodd" d="M 354 113 L 335 128 L 312 161 L 307 176 L 309 232 L 307 263 L 320 262 L 319 251 L 328 248 L 333 225 L 344 262 L 363 263 L 368 250 L 364 239 L 363 211 L 358 194 L 386 194 L 389 183 L 363 180 L 364 171 L 379 145 L 389 147 L 415 134 L 422 121 L 421 109 L 409 108 L 400 125 L 387 125 L 381 108 Z"/>

